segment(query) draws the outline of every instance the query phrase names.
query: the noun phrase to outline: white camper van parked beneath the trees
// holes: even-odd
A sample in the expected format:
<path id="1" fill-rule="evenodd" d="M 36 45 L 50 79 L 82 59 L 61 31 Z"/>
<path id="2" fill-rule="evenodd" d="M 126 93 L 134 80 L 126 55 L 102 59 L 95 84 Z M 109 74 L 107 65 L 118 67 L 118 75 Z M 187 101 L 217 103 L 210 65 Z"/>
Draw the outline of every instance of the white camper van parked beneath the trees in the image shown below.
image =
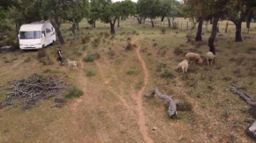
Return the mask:
<path id="1" fill-rule="evenodd" d="M 19 48 L 39 49 L 54 44 L 56 33 L 49 22 L 34 22 L 19 29 Z"/>

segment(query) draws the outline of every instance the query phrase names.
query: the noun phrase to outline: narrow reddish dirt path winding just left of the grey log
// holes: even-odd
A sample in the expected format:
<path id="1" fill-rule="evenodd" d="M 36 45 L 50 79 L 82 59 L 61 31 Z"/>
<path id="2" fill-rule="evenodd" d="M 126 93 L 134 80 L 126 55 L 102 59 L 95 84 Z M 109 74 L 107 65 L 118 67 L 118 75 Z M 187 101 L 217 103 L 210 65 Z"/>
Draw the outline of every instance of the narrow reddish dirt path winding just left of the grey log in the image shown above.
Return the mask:
<path id="1" fill-rule="evenodd" d="M 142 106 L 142 104 L 143 104 L 143 100 L 142 100 L 143 92 L 144 92 L 144 90 L 146 88 L 146 85 L 148 83 L 148 71 L 147 71 L 145 61 L 143 61 L 143 59 L 141 58 L 141 55 L 139 54 L 139 49 L 140 49 L 140 47 L 138 46 L 138 48 L 136 49 L 136 54 L 139 58 L 139 62 L 141 63 L 142 68 L 143 68 L 143 72 L 144 72 L 144 85 L 143 85 L 142 89 L 139 90 L 139 93 L 137 94 L 137 96 L 134 97 L 135 100 L 136 100 L 136 103 L 138 105 L 137 111 L 139 113 L 139 119 L 138 119 L 139 132 L 142 134 L 143 139 L 147 143 L 153 143 L 154 140 L 151 139 L 148 136 L 147 126 L 145 125 L 146 118 L 145 118 L 144 110 L 143 110 L 143 106 Z"/>

